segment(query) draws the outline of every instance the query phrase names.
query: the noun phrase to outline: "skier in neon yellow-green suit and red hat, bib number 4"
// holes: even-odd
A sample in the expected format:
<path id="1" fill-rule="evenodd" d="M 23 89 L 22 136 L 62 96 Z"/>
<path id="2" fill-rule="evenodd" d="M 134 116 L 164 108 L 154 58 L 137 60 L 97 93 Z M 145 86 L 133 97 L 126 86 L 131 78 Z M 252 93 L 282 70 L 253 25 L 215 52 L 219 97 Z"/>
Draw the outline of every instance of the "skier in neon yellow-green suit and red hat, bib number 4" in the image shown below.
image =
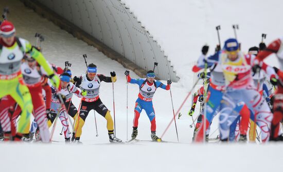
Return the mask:
<path id="1" fill-rule="evenodd" d="M 15 37 L 13 24 L 7 20 L 4 21 L 0 25 L 0 99 L 10 95 L 22 109 L 17 127 L 19 134 L 17 134 L 15 139 L 21 138 L 21 134 L 29 133 L 27 125 L 30 123 L 30 114 L 33 109 L 31 96 L 28 88 L 24 85 L 21 73 L 21 60 L 27 52 L 44 68 L 50 81 L 58 88 L 60 83 L 59 77 L 54 75 L 54 71 L 49 68 L 43 55 L 35 48 L 32 48 L 27 40 Z M 2 106 L 3 104 L 1 103 L 0 108 Z M 9 118 L 1 121 L 2 126 L 9 122 Z"/>

